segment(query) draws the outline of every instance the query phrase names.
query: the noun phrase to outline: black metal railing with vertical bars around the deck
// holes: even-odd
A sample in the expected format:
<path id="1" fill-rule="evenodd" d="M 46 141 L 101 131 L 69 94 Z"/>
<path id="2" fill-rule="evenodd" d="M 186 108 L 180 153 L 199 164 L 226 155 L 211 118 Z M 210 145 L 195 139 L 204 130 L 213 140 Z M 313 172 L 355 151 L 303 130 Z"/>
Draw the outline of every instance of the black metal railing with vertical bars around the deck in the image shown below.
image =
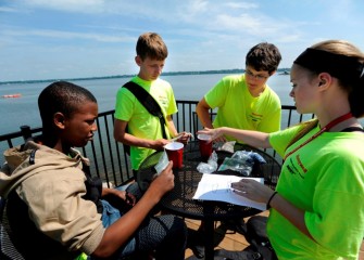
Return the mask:
<path id="1" fill-rule="evenodd" d="M 177 131 L 188 131 L 196 133 L 202 129 L 196 115 L 198 101 L 177 101 L 178 113 L 173 120 Z M 300 115 L 294 106 L 284 105 L 281 128 L 296 125 L 303 120 L 313 118 L 313 115 Z M 213 115 L 215 110 L 211 110 Z M 124 153 L 123 145 L 113 138 L 114 110 L 100 113 L 97 118 L 98 132 L 93 141 L 81 148 L 84 156 L 91 160 L 91 172 L 100 177 L 104 182 L 114 185 L 123 185 L 129 182 L 133 177 L 129 157 Z M 21 127 L 21 131 L 0 135 L 0 164 L 4 164 L 3 152 L 10 147 L 21 145 L 29 136 L 37 135 L 41 128 Z M 278 162 L 281 158 L 273 150 L 266 150 Z"/>

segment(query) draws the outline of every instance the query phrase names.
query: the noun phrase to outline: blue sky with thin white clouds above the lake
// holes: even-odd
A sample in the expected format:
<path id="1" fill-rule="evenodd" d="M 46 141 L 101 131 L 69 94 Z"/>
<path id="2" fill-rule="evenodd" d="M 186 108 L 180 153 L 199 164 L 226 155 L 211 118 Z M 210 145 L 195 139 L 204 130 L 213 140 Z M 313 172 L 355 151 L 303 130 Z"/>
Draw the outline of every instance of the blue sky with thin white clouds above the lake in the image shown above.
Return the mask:
<path id="1" fill-rule="evenodd" d="M 162 36 L 164 72 L 244 68 L 278 47 L 279 68 L 343 39 L 364 51 L 363 0 L 0 0 L 0 81 L 134 75 L 142 32 Z"/>

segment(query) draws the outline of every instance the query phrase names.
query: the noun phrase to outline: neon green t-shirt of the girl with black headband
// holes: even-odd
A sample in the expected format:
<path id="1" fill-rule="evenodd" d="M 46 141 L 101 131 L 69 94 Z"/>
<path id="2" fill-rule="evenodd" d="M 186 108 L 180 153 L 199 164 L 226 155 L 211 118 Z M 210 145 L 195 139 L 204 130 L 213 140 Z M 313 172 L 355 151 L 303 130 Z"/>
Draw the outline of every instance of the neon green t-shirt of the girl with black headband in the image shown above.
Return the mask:
<path id="1" fill-rule="evenodd" d="M 300 127 L 269 134 L 272 146 L 284 156 Z M 303 143 L 319 126 L 291 145 Z M 364 134 L 324 132 L 284 162 L 276 191 L 303 209 L 314 240 L 302 234 L 275 209 L 267 234 L 279 259 L 357 259 L 364 234 Z"/>

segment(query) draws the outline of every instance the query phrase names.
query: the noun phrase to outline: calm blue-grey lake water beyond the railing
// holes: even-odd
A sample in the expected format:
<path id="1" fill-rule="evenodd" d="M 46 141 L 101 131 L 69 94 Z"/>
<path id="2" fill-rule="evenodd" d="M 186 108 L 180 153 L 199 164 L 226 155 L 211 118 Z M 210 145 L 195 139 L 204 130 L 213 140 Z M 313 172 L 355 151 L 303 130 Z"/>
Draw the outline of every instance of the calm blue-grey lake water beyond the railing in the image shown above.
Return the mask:
<path id="1" fill-rule="evenodd" d="M 203 94 L 211 89 L 226 74 L 203 75 L 176 75 L 163 76 L 175 92 L 176 100 L 199 101 Z M 86 79 L 72 80 L 72 82 L 90 90 L 98 100 L 99 112 L 114 109 L 117 90 L 129 78 Z M 27 125 L 32 128 L 40 127 L 41 121 L 38 113 L 37 100 L 43 88 L 51 82 L 24 82 L 0 84 L 0 96 L 5 94 L 21 93 L 21 98 L 0 98 L 0 135 L 20 130 L 20 126 Z M 268 86 L 279 95 L 283 105 L 293 105 L 289 96 L 291 84 L 289 76 L 274 75 L 268 79 Z"/>

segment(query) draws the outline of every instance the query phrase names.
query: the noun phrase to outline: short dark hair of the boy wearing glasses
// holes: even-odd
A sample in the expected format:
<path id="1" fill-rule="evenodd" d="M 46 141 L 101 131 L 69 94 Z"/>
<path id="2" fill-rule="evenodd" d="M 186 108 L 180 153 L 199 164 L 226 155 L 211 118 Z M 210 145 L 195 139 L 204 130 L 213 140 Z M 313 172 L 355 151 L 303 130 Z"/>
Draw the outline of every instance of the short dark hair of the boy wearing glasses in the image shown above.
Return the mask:
<path id="1" fill-rule="evenodd" d="M 251 66 L 255 70 L 266 70 L 269 74 L 277 70 L 281 61 L 278 48 L 268 42 L 261 42 L 247 53 L 246 66 Z"/>

